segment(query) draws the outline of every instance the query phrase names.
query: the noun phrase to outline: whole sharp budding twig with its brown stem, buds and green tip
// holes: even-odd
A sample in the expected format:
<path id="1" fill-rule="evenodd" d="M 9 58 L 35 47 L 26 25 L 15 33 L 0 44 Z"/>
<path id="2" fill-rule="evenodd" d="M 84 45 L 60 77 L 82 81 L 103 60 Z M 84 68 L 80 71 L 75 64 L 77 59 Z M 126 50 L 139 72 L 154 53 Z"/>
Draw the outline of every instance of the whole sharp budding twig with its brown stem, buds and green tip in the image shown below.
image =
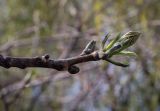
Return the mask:
<path id="1" fill-rule="evenodd" d="M 104 45 L 101 50 L 95 51 L 96 41 L 90 41 L 82 53 L 78 56 L 67 58 L 67 59 L 50 59 L 49 55 L 44 55 L 41 57 L 9 57 L 0 55 L 0 66 L 4 68 L 18 67 L 21 69 L 29 67 L 41 67 L 41 68 L 51 68 L 58 71 L 68 70 L 71 74 L 76 74 L 79 72 L 79 68 L 75 66 L 76 64 L 89 62 L 89 61 L 98 61 L 105 60 L 112 64 L 127 67 L 128 64 L 123 64 L 119 62 L 112 61 L 111 58 L 113 55 L 120 54 L 124 49 L 133 45 L 138 37 L 140 36 L 139 32 L 130 31 L 123 36 L 117 35 L 117 37 L 110 42 L 106 48 Z M 106 40 L 107 40 L 106 36 Z M 106 42 L 104 40 L 104 43 Z M 123 52 L 124 53 L 124 52 Z"/>

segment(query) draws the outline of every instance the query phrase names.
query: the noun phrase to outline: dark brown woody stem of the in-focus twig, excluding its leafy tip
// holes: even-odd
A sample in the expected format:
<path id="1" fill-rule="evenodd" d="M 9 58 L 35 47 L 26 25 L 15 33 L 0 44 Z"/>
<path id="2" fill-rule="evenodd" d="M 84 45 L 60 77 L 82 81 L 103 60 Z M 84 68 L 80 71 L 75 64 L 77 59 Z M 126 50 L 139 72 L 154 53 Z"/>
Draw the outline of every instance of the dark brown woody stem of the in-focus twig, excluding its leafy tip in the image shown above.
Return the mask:
<path id="1" fill-rule="evenodd" d="M 67 70 L 75 64 L 88 62 L 88 61 L 97 61 L 100 60 L 98 51 L 93 52 L 89 55 L 76 56 L 68 59 L 59 59 L 53 60 L 49 58 L 49 55 L 42 57 L 9 57 L 0 55 L 0 66 L 4 68 L 17 67 L 25 69 L 28 67 L 41 67 L 41 68 L 52 68 L 58 71 Z M 72 69 L 71 69 L 72 70 Z M 78 72 L 77 72 L 78 73 Z"/>

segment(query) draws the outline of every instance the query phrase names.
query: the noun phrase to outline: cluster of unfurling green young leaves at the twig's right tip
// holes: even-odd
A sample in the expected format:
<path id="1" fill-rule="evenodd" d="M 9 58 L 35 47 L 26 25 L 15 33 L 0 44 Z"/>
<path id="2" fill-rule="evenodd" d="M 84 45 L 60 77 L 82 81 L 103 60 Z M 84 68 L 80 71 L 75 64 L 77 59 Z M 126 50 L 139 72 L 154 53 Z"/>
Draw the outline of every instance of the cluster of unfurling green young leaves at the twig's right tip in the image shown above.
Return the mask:
<path id="1" fill-rule="evenodd" d="M 124 55 L 124 56 L 137 56 L 135 52 L 125 51 L 128 47 L 132 46 L 140 36 L 140 32 L 129 31 L 123 36 L 118 34 L 115 39 L 113 39 L 106 47 L 105 43 L 108 40 L 108 34 L 102 40 L 102 50 L 105 54 L 108 54 L 108 58 L 106 59 L 108 62 L 115 64 L 117 66 L 127 67 L 129 66 L 126 63 L 116 62 L 111 60 L 110 58 L 113 55 Z"/>

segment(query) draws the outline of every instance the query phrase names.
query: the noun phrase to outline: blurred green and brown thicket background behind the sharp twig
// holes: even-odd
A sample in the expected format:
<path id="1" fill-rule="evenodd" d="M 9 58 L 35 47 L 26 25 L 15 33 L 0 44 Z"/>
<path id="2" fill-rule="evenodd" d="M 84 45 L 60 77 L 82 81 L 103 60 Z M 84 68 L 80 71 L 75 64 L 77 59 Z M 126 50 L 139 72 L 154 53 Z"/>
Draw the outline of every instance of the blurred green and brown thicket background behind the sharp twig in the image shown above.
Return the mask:
<path id="1" fill-rule="evenodd" d="M 79 55 L 106 33 L 140 31 L 122 68 L 96 61 L 80 72 L 0 68 L 1 111 L 160 111 L 159 0 L 0 0 L 0 54 Z M 29 77 L 32 75 L 32 77 Z M 26 79 L 26 78 L 29 79 Z"/>

